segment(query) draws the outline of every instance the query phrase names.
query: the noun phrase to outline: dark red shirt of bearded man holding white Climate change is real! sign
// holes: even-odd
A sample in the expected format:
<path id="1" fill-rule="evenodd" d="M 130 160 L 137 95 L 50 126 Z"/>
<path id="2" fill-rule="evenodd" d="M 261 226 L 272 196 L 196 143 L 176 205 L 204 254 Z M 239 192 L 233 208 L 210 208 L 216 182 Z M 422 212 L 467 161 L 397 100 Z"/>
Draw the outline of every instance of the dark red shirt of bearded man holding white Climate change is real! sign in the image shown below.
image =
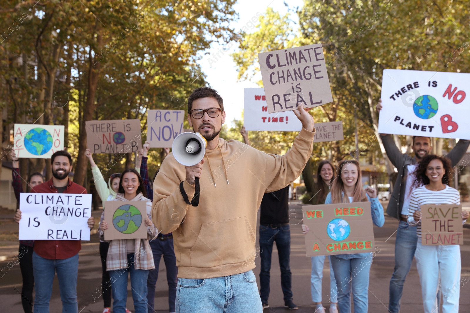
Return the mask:
<path id="1" fill-rule="evenodd" d="M 34 186 L 31 192 L 38 193 L 57 193 L 57 189 L 52 183 L 52 178 L 39 185 Z M 69 179 L 67 188 L 63 193 L 86 193 L 86 189 L 80 186 L 78 183 L 73 183 Z M 73 257 L 82 248 L 80 240 L 35 240 L 34 241 L 34 252 L 40 257 L 50 260 L 62 260 Z"/>

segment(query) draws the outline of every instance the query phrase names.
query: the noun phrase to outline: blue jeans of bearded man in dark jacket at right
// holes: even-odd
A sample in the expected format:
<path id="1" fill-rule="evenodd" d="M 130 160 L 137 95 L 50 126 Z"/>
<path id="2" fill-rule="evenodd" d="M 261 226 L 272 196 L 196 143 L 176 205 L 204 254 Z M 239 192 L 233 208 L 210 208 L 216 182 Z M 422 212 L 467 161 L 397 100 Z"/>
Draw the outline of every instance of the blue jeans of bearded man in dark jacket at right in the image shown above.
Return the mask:
<path id="1" fill-rule="evenodd" d="M 388 310 L 392 313 L 400 312 L 403 285 L 415 256 L 417 240 L 416 226 L 410 226 L 407 222 L 400 221 L 395 239 L 395 269 L 390 280 Z"/>

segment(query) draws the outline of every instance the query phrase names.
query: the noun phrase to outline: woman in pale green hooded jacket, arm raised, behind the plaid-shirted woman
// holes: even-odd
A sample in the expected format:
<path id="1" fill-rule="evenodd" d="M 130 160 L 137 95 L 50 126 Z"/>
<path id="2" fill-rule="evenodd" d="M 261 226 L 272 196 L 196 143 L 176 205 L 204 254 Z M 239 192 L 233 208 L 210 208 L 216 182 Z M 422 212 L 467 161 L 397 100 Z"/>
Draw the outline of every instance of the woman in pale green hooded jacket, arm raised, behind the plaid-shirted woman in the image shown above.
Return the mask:
<path id="1" fill-rule="evenodd" d="M 100 196 L 101 201 L 104 203 L 106 201 L 111 201 L 116 198 L 116 193 L 119 189 L 119 180 L 121 179 L 121 173 L 114 173 L 110 175 L 108 184 L 106 184 L 103 174 L 100 171 L 100 168 L 96 165 L 93 160 L 93 155 L 90 149 L 85 150 L 85 156 L 90 161 L 91 172 L 93 174 L 93 181 L 98 196 Z M 99 229 L 99 227 L 98 227 Z M 102 278 L 101 278 L 101 290 L 103 292 L 103 302 L 104 308 L 102 313 L 111 312 L 111 282 L 110 282 L 110 273 L 106 270 L 106 256 L 108 255 L 108 249 L 110 247 L 109 242 L 105 242 L 100 238 L 100 257 L 101 257 L 101 267 L 102 267 Z M 131 313 L 131 311 L 125 309 L 126 313 Z"/>

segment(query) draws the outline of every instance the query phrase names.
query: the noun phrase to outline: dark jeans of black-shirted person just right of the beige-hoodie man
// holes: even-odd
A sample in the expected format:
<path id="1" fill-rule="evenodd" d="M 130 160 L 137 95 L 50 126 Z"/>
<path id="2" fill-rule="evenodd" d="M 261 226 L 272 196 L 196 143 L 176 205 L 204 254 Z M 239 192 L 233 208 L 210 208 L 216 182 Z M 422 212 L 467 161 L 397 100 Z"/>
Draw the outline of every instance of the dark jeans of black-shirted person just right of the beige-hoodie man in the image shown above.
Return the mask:
<path id="1" fill-rule="evenodd" d="M 262 301 L 269 298 L 269 271 L 271 270 L 271 254 L 273 244 L 276 242 L 281 267 L 281 288 L 284 301 L 292 300 L 292 274 L 290 273 L 290 226 L 282 226 L 272 229 L 263 225 L 259 226 L 259 248 L 261 252 L 261 271 L 259 273 L 260 296 Z"/>

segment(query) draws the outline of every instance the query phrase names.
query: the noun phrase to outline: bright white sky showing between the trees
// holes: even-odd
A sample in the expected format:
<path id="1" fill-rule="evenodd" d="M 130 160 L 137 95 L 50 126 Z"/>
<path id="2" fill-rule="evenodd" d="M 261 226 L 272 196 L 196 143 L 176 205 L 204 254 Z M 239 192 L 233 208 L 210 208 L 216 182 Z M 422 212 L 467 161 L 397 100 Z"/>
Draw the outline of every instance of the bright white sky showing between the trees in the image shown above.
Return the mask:
<path id="1" fill-rule="evenodd" d="M 303 0 L 289 0 L 289 8 L 301 7 Z M 266 8 L 271 7 L 274 11 L 279 12 L 281 15 L 287 13 L 288 8 L 284 5 L 284 0 L 238 0 L 235 4 L 235 11 L 238 12 L 240 18 L 232 23 L 230 26 L 235 28 L 236 32 L 240 32 L 242 27 L 246 26 L 248 29 L 255 30 L 251 18 L 253 16 L 264 15 Z M 258 13 L 259 12 L 259 13 Z M 291 12 L 291 18 L 296 19 L 297 15 Z M 255 25 L 258 22 L 254 23 Z M 232 42 L 231 48 L 227 48 L 229 44 L 213 43 L 211 49 L 207 50 L 209 54 L 203 55 L 199 61 L 206 80 L 209 82 L 211 88 L 219 92 L 220 96 L 224 99 L 224 109 L 227 112 L 226 125 L 231 126 L 233 119 L 242 118 L 243 111 L 243 91 L 244 88 L 257 88 L 258 84 L 255 82 L 261 79 L 259 74 L 253 81 L 239 81 L 237 82 L 236 65 L 230 56 L 231 53 L 238 50 L 238 43 Z M 222 51 L 223 54 L 219 51 Z M 219 57 L 215 56 L 219 53 Z M 215 63 L 209 59 L 217 60 Z"/>

